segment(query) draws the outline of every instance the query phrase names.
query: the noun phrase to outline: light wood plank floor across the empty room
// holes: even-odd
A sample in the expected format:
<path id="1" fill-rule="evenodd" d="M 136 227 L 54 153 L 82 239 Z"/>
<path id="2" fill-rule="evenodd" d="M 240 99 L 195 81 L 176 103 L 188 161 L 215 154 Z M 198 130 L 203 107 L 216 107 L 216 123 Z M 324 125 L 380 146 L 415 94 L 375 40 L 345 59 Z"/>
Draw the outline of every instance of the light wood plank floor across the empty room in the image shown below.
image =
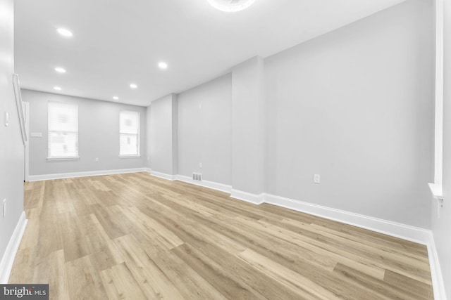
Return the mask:
<path id="1" fill-rule="evenodd" d="M 147 173 L 25 184 L 51 299 L 433 299 L 426 247 Z"/>

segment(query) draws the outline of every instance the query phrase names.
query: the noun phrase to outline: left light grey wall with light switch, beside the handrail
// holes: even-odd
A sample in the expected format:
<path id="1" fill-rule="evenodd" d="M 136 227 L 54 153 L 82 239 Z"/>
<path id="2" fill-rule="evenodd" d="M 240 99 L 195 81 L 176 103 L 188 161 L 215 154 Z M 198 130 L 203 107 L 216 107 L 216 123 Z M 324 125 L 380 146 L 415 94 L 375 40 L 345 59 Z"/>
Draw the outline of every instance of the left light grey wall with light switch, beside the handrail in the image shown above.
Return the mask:
<path id="1" fill-rule="evenodd" d="M 0 0 L 0 260 L 23 212 L 25 152 L 20 133 L 16 100 L 13 93 L 14 72 L 13 0 Z M 5 112 L 9 125 L 5 126 Z M 6 199 L 6 216 L 1 202 Z M 4 267 L 4 266 L 3 266 Z M 4 270 L 0 270 L 3 274 Z M 1 282 L 4 283 L 4 282 Z"/>

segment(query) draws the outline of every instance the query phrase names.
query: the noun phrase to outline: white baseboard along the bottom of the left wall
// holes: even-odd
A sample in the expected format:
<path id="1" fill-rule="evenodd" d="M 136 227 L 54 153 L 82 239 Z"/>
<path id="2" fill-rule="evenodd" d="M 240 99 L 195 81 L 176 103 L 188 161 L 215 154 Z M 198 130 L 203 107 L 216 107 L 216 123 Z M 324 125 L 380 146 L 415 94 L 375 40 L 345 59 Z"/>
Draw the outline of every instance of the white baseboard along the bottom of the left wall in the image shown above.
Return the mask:
<path id="1" fill-rule="evenodd" d="M 27 227 L 27 222 L 28 220 L 27 216 L 25 216 L 25 211 L 22 211 L 13 235 L 11 236 L 11 239 L 9 239 L 5 253 L 0 261 L 0 284 L 2 285 L 8 283 L 11 268 L 13 268 L 14 259 L 16 258 L 23 233 L 25 232 L 25 227 Z"/>

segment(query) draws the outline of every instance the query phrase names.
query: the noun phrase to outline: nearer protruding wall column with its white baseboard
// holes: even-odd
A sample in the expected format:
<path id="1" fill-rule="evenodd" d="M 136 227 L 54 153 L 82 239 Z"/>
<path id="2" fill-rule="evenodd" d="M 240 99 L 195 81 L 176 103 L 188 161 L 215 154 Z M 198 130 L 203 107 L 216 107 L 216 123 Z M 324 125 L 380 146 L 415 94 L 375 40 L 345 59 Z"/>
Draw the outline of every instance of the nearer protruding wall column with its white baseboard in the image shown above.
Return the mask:
<path id="1" fill-rule="evenodd" d="M 264 61 L 255 57 L 232 70 L 232 194 L 263 202 Z"/>

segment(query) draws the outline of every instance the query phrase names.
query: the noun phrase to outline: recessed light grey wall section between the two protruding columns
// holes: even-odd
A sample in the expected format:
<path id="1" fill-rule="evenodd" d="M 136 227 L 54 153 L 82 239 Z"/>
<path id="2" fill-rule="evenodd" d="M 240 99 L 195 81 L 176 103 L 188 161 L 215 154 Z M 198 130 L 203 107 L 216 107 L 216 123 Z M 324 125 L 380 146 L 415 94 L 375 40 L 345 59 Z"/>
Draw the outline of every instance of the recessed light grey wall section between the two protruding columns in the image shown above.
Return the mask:
<path id="1" fill-rule="evenodd" d="M 231 74 L 178 94 L 178 174 L 231 184 L 231 98 Z"/>

